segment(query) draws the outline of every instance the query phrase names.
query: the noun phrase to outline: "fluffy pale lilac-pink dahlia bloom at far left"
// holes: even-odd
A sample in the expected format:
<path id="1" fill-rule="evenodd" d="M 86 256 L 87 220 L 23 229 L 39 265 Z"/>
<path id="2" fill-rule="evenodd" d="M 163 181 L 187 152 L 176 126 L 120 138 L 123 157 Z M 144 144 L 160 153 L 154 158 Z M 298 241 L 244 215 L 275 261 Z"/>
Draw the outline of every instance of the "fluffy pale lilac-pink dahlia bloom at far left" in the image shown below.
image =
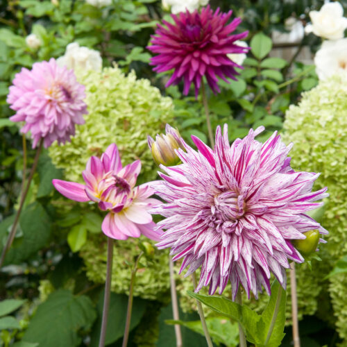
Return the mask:
<path id="1" fill-rule="evenodd" d="M 33 148 L 40 139 L 49 147 L 64 144 L 75 134 L 75 124 L 83 124 L 87 113 L 85 87 L 76 81 L 73 70 L 49 62 L 35 62 L 30 71 L 16 74 L 7 102 L 17 113 L 11 121 L 24 121 L 22 133 L 31 132 Z"/>

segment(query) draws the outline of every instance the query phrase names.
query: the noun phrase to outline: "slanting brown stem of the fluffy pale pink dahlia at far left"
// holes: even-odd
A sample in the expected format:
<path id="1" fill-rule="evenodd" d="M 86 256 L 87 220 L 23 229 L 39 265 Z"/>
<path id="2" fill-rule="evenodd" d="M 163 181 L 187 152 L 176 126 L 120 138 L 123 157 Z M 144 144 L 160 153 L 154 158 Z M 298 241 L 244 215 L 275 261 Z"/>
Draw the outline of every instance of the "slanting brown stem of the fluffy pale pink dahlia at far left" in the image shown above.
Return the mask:
<path id="1" fill-rule="evenodd" d="M 29 191 L 31 180 L 33 180 L 33 176 L 35 174 L 37 163 L 39 162 L 39 157 L 40 157 L 40 153 L 41 153 L 41 150 L 42 150 L 42 144 L 43 144 L 43 139 L 41 139 L 40 144 L 39 144 L 39 146 L 38 146 L 38 148 L 36 150 L 36 154 L 35 154 L 35 158 L 34 158 L 34 162 L 33 162 L 33 167 L 31 167 L 31 171 L 30 171 L 28 180 L 26 182 L 26 187 L 24 189 L 24 192 L 22 192 L 21 200 L 20 200 L 20 203 L 19 203 L 19 208 L 18 208 L 17 213 L 15 215 L 15 221 L 13 221 L 12 228 L 11 228 L 11 231 L 10 231 L 10 235 L 8 236 L 6 245 L 3 247 L 3 250 L 2 250 L 2 253 L 1 253 L 0 269 L 1 269 L 2 265 L 3 265 L 3 261 L 5 260 L 6 253 L 10 249 L 10 246 L 12 245 L 12 242 L 15 239 L 15 235 L 16 235 L 16 232 L 17 232 L 17 226 L 18 226 L 18 223 L 19 223 L 19 217 L 20 217 L 20 214 L 21 214 L 23 206 L 24 206 L 25 198 L 26 198 L 26 196 L 28 194 L 28 191 Z"/>

